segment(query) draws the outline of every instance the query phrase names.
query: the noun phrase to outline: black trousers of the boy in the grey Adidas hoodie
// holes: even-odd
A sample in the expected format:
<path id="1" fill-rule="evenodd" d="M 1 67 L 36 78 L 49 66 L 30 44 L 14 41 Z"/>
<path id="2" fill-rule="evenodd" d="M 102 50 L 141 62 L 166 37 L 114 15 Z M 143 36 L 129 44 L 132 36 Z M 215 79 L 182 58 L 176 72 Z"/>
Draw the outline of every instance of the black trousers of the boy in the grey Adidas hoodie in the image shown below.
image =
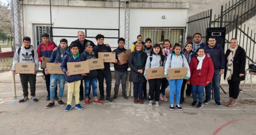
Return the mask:
<path id="1" fill-rule="evenodd" d="M 20 74 L 23 96 L 28 96 L 28 82 L 30 83 L 30 95 L 36 96 L 36 75 Z"/>

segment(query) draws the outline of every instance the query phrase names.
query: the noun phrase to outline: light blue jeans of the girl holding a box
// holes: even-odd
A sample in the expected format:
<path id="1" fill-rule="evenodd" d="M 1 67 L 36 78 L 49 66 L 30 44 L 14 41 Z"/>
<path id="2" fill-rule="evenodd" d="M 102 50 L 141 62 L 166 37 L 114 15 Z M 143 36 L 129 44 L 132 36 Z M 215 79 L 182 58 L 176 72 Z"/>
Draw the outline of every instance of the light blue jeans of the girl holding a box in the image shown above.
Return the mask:
<path id="1" fill-rule="evenodd" d="M 176 92 L 176 104 L 180 104 L 180 94 L 183 79 L 170 80 L 170 104 L 174 104 L 174 92 Z M 175 90 L 176 87 L 176 90 Z"/>

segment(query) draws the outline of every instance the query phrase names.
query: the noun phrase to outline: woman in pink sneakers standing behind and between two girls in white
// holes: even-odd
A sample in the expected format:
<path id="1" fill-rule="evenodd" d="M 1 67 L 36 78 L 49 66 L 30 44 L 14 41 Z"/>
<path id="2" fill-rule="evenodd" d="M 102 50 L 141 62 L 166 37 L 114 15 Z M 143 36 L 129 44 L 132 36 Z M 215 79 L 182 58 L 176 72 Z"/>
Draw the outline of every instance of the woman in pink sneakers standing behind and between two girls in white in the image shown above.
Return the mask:
<path id="1" fill-rule="evenodd" d="M 169 41 L 169 39 L 165 39 L 163 43 L 164 43 L 164 46 L 162 47 L 162 52 L 165 58 L 167 59 L 167 56 L 172 53 L 172 44 Z M 161 101 L 165 101 L 165 102 L 168 101 L 168 99 L 165 97 L 165 89 L 168 86 L 169 86 L 168 80 L 166 78 L 162 78 L 162 84 L 161 84 L 160 96 L 159 96 L 159 99 Z"/>

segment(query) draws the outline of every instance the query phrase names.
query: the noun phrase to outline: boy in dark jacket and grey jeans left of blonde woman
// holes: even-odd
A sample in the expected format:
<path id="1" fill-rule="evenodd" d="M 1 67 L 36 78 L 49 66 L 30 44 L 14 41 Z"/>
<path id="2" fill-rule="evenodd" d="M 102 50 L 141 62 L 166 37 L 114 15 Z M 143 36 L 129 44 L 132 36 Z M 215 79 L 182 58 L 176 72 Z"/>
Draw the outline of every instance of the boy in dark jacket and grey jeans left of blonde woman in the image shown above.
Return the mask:
<path id="1" fill-rule="evenodd" d="M 113 100 L 117 99 L 118 96 L 118 90 L 119 90 L 119 85 L 120 85 L 120 80 L 122 81 L 122 98 L 124 100 L 127 100 L 128 98 L 126 97 L 126 80 L 127 80 L 127 69 L 129 68 L 128 66 L 128 61 L 125 61 L 124 63 L 120 63 L 118 60 L 117 55 L 120 53 L 123 53 L 127 49 L 124 48 L 124 38 L 119 38 L 118 39 L 118 48 L 114 49 L 113 52 L 116 52 L 116 61 L 114 63 L 114 73 L 115 73 L 115 87 L 114 87 L 114 97 L 112 98 Z"/>

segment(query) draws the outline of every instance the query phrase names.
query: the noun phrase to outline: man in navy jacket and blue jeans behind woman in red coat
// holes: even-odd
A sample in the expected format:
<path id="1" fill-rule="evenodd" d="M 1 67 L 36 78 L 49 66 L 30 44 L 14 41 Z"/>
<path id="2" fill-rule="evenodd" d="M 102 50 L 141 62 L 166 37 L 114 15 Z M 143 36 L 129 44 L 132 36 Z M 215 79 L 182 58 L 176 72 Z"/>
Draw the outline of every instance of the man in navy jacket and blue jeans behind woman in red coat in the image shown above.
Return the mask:
<path id="1" fill-rule="evenodd" d="M 222 105 L 220 103 L 220 77 L 224 73 L 225 69 L 225 54 L 221 45 L 216 44 L 215 37 L 210 36 L 208 39 L 208 44 L 208 46 L 204 47 L 204 50 L 207 54 L 210 55 L 214 65 L 214 75 L 212 79 L 214 101 L 218 107 L 221 107 Z M 205 87 L 206 99 L 204 100 L 204 104 L 208 104 L 210 102 L 212 83 L 209 83 Z"/>

